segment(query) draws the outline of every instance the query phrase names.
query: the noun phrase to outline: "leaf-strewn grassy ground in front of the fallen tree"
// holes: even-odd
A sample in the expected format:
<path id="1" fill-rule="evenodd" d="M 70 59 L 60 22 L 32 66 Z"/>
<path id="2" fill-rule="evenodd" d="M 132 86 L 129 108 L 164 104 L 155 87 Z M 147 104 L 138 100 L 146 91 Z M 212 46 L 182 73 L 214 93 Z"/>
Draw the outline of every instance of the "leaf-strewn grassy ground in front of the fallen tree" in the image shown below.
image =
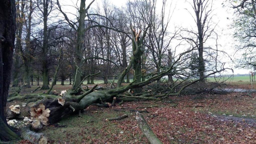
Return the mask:
<path id="1" fill-rule="evenodd" d="M 237 85 L 236 88 L 243 88 Z M 22 93 L 31 92 L 36 86 Z M 70 86 L 56 85 L 61 91 Z M 40 90 L 38 90 L 39 92 Z M 155 101 L 124 102 L 112 108 L 89 106 L 79 117 L 77 114 L 63 118 L 56 125 L 45 126 L 41 131 L 51 144 L 114 144 L 148 143 L 136 124 L 136 112 L 142 113 L 148 125 L 163 143 L 256 143 L 256 93 L 241 96 L 232 92 L 225 95 L 197 95 L 170 97 L 177 106 Z M 24 102 L 8 102 L 22 105 Z M 151 108 L 137 108 L 159 106 Z M 106 118 L 128 115 L 118 121 Z M 22 116 L 29 116 L 22 107 Z M 19 143 L 29 143 L 20 141 Z"/>

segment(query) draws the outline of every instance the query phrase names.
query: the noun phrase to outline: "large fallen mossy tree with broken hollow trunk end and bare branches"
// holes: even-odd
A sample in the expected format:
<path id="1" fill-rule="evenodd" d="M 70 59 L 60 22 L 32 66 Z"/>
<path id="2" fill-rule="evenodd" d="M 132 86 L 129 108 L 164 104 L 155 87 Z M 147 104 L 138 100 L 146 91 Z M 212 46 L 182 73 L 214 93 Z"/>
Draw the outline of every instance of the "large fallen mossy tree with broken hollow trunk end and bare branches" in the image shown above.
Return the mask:
<path id="1" fill-rule="evenodd" d="M 143 94 L 143 93 L 142 93 L 142 95 L 137 94 L 136 96 L 129 93 L 130 89 L 141 88 L 143 86 L 151 84 L 154 81 L 161 79 L 164 76 L 167 76 L 170 74 L 171 75 L 179 74 L 179 73 L 175 72 L 174 69 L 176 69 L 182 63 L 184 63 L 184 61 L 183 61 L 184 59 L 187 60 L 187 58 L 183 58 L 183 57 L 188 55 L 190 52 L 192 52 L 194 50 L 198 50 L 198 48 L 196 46 L 196 47 L 193 47 L 193 48 L 187 50 L 184 53 L 179 54 L 176 57 L 176 60 L 173 61 L 172 65 L 168 69 L 163 70 L 162 72 L 159 72 L 159 73 L 152 74 L 152 76 L 149 77 L 148 79 L 146 79 L 145 81 L 137 82 L 136 80 L 134 80 L 134 81 L 132 81 L 132 83 L 122 86 L 122 81 L 124 79 L 124 76 L 130 71 L 133 64 L 135 63 L 134 55 L 136 55 L 136 53 L 141 52 L 139 49 L 140 49 L 143 39 L 146 35 L 147 28 L 145 29 L 142 37 L 139 38 L 138 35 L 136 35 L 136 36 L 134 35 L 134 34 L 136 34 L 135 29 L 133 29 L 131 27 L 132 38 L 133 38 L 133 42 L 134 42 L 133 46 L 135 47 L 135 51 L 133 52 L 133 55 L 131 56 L 129 65 L 119 75 L 116 88 L 96 91 L 94 89 L 97 87 L 97 85 L 95 85 L 93 88 L 91 88 L 89 90 L 83 89 L 81 86 L 83 80 L 85 80 L 89 76 L 94 76 L 94 75 L 99 74 L 99 73 L 97 73 L 97 74 L 86 76 L 77 87 L 68 89 L 68 90 L 64 91 L 63 93 L 61 93 L 62 97 L 55 96 L 55 95 L 49 95 L 50 91 L 53 88 L 53 85 L 52 85 L 51 88 L 45 94 L 38 93 L 38 94 L 27 94 L 25 96 L 18 95 L 18 96 L 9 98 L 8 101 L 18 99 L 18 100 L 27 100 L 28 102 L 33 102 L 32 103 L 33 105 L 30 105 L 31 106 L 31 108 L 30 108 L 31 117 L 40 120 L 43 125 L 49 125 L 49 124 L 53 124 L 53 123 L 59 121 L 61 118 L 65 117 L 71 113 L 74 113 L 74 112 L 79 113 L 80 111 L 84 110 L 85 108 L 87 108 L 88 106 L 90 106 L 92 104 L 104 105 L 104 104 L 108 104 L 106 102 L 109 102 L 109 104 L 110 104 L 109 107 L 110 107 L 115 104 L 115 101 L 135 101 L 138 99 L 163 101 L 163 99 L 168 96 L 179 96 L 186 87 L 201 81 L 202 78 L 193 79 L 193 80 L 187 82 L 186 80 L 193 77 L 193 75 L 191 74 L 191 76 L 189 76 L 188 78 L 182 79 L 181 81 L 179 81 L 179 83 L 176 83 L 176 84 L 172 83 L 172 85 L 173 85 L 172 89 L 174 89 L 174 90 L 170 90 L 169 92 L 159 93 L 156 95 L 153 95 L 150 92 L 145 92 L 145 94 Z M 137 42 L 138 39 L 140 39 L 140 43 Z M 208 74 L 205 75 L 205 77 L 203 77 L 203 78 L 206 78 L 210 75 L 219 73 L 225 69 L 226 68 L 224 68 L 224 65 L 222 65 L 220 70 L 217 70 L 217 68 L 215 70 L 209 70 L 209 71 L 211 71 L 211 73 L 209 73 L 209 71 L 207 71 Z M 58 68 L 57 68 L 57 70 L 58 70 Z M 55 73 L 55 76 L 56 76 L 56 73 Z M 183 85 L 181 85 L 181 84 L 183 84 Z M 114 97 L 116 97 L 116 99 Z M 111 104 L 111 102 L 112 102 L 112 104 Z"/>

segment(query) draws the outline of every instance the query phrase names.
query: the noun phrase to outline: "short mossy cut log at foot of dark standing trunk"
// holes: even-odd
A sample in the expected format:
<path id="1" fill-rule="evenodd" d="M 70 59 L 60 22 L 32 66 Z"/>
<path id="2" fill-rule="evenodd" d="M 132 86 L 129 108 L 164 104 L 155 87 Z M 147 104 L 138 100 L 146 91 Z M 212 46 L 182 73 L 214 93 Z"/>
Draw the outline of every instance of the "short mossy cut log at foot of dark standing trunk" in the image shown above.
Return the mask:
<path id="1" fill-rule="evenodd" d="M 47 144 L 48 139 L 43 133 L 36 133 L 30 129 L 30 124 L 27 127 L 22 128 L 20 131 L 21 137 L 33 144 Z"/>

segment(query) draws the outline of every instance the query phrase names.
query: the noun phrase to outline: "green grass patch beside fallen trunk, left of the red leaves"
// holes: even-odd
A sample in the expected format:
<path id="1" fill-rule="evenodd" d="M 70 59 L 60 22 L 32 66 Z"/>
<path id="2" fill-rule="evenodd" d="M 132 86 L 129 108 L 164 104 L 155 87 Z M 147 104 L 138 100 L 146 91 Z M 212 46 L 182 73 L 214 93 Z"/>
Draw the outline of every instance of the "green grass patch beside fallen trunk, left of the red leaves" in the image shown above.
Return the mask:
<path id="1" fill-rule="evenodd" d="M 94 140 L 100 140 L 102 143 L 128 143 L 133 139 L 140 141 L 142 139 L 141 135 L 137 134 L 134 138 L 132 130 L 124 131 L 118 126 L 118 123 L 105 121 L 106 118 L 123 114 L 129 115 L 130 112 L 111 111 L 102 114 L 87 112 L 81 114 L 81 118 L 77 115 L 71 115 L 58 122 L 58 125 L 63 127 L 47 126 L 40 132 L 44 133 L 54 144 L 94 143 Z M 131 118 L 133 117 L 131 116 Z M 121 131 L 124 133 L 121 134 Z"/>

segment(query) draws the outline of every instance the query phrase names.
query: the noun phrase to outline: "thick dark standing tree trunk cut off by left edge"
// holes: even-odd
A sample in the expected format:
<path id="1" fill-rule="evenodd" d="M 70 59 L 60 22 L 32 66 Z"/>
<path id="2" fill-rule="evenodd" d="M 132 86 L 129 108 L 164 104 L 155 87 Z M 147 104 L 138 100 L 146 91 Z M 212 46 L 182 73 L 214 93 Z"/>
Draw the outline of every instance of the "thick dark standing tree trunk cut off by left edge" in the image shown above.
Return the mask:
<path id="1" fill-rule="evenodd" d="M 0 1 L 0 141 L 19 137 L 6 122 L 5 109 L 10 84 L 13 49 L 16 30 L 16 7 L 14 0 Z"/>

